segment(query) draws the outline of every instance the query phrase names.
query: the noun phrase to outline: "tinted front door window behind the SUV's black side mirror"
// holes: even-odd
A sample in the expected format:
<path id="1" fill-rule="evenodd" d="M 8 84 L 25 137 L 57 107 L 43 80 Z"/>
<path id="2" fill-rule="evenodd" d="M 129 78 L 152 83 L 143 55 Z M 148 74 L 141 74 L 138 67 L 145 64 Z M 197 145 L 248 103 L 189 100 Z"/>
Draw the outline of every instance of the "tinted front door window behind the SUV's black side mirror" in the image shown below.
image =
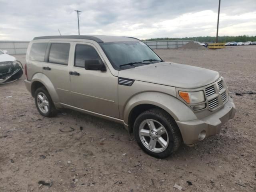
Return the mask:
<path id="1" fill-rule="evenodd" d="M 97 51 L 89 45 L 76 45 L 75 66 L 84 67 L 84 62 L 90 59 L 100 60 Z"/>

